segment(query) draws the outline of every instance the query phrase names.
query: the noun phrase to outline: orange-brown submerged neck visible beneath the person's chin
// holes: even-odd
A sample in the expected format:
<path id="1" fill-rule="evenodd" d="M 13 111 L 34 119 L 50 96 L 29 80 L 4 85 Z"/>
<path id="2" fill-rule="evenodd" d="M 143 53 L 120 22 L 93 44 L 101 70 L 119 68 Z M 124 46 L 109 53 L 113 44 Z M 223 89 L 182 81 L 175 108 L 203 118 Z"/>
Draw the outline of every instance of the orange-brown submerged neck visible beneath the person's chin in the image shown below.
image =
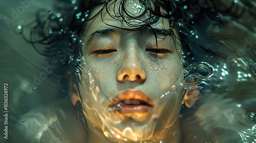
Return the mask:
<path id="1" fill-rule="evenodd" d="M 102 131 L 96 129 L 95 127 L 91 126 L 92 124 L 88 124 L 88 139 L 86 142 L 117 142 L 116 140 L 112 140 L 104 136 Z M 155 135 L 154 140 L 147 140 L 147 141 L 136 141 L 140 143 L 153 143 L 153 142 L 174 142 L 179 143 L 181 142 L 181 129 L 180 129 L 180 121 L 177 121 L 168 128 L 163 129 L 161 132 Z M 127 141 L 124 141 L 127 142 Z M 135 141 L 129 141 L 135 142 Z"/>

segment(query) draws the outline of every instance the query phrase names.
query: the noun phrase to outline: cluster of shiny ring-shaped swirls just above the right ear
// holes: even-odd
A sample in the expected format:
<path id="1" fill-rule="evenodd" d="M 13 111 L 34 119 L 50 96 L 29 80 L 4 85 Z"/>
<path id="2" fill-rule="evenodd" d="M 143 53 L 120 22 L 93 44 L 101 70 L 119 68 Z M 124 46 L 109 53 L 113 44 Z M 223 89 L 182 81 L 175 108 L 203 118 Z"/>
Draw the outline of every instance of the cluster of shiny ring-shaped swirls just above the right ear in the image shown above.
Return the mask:
<path id="1" fill-rule="evenodd" d="M 190 64 L 182 61 L 184 69 L 179 79 L 185 89 L 196 89 L 202 81 L 209 80 L 214 68 L 206 62 Z"/>

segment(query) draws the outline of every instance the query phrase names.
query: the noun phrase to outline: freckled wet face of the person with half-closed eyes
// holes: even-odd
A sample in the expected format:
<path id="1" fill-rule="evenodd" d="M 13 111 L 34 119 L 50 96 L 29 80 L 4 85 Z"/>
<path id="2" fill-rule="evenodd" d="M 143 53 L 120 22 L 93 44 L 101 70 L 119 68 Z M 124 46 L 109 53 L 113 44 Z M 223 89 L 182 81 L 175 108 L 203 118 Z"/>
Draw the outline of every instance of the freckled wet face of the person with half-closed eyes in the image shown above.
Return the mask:
<path id="1" fill-rule="evenodd" d="M 107 13 L 102 17 L 110 25 L 131 28 Z M 169 21 L 160 18 L 153 28 L 167 26 Z M 85 29 L 86 68 L 79 90 L 89 126 L 110 138 L 135 141 L 152 139 L 172 128 L 184 93 L 178 84 L 183 69 L 181 47 L 174 38 L 158 38 L 157 50 L 150 29 L 120 30 L 105 25 L 100 15 Z"/>

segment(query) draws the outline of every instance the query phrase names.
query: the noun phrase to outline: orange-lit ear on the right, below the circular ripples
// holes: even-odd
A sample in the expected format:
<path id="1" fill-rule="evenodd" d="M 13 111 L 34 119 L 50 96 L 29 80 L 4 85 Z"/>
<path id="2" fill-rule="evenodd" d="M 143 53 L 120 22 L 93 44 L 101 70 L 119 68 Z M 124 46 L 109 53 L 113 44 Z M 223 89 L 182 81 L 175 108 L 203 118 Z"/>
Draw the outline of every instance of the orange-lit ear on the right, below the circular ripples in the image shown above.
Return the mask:
<path id="1" fill-rule="evenodd" d="M 186 104 L 187 107 L 195 105 L 196 101 L 201 97 L 199 89 L 188 89 L 186 90 L 182 99 L 182 104 Z"/>

